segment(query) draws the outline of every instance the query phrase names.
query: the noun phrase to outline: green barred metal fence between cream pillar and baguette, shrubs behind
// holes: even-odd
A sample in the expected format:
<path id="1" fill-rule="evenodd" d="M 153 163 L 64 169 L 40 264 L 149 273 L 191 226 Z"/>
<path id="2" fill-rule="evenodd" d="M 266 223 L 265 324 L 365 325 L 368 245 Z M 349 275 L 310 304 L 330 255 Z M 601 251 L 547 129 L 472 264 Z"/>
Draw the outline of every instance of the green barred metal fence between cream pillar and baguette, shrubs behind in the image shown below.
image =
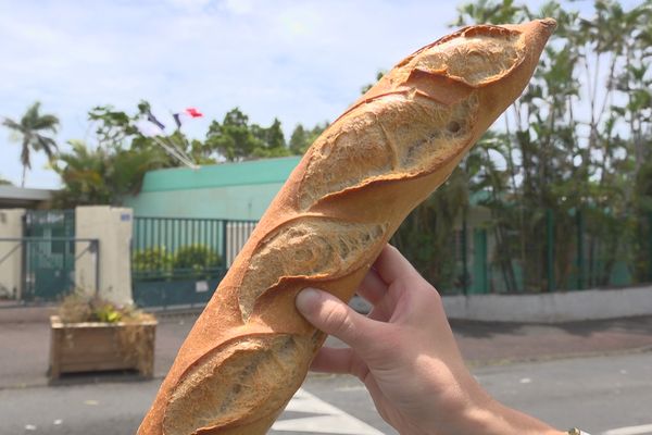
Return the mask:
<path id="1" fill-rule="evenodd" d="M 209 301 L 255 221 L 134 217 L 131 283 L 139 307 Z"/>

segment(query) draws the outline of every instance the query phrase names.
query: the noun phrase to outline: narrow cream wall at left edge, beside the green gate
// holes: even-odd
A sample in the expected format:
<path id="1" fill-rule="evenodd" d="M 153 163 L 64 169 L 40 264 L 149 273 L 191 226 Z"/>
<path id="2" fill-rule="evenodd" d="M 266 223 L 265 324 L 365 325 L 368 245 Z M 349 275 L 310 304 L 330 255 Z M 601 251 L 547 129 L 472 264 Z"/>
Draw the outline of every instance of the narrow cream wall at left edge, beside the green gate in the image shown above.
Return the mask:
<path id="1" fill-rule="evenodd" d="M 0 238 L 23 237 L 25 209 L 0 210 Z M 0 241 L 0 295 L 20 299 L 23 248 L 20 241 Z"/>

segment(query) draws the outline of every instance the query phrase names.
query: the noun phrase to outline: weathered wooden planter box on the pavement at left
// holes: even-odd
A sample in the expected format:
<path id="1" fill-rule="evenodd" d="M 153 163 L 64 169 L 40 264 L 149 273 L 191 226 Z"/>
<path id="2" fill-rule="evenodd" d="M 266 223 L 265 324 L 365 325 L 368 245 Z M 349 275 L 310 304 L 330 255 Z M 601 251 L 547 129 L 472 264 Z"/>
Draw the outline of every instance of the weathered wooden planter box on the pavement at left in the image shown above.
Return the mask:
<path id="1" fill-rule="evenodd" d="M 134 369 L 151 377 L 156 323 L 63 323 L 51 316 L 50 380 L 62 373 Z"/>

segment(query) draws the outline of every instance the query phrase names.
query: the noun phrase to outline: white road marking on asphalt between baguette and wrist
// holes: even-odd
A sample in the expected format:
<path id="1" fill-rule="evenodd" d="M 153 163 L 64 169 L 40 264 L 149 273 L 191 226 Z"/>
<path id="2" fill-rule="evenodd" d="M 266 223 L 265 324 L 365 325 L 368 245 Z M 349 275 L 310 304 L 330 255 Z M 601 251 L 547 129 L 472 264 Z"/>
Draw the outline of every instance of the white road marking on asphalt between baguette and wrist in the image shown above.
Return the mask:
<path id="1" fill-rule="evenodd" d="M 340 435 L 385 435 L 365 422 L 349 415 L 339 408 L 321 400 L 304 389 L 299 389 L 286 407 L 286 411 L 314 413 L 318 415 L 279 420 L 273 431 L 313 432 Z"/>

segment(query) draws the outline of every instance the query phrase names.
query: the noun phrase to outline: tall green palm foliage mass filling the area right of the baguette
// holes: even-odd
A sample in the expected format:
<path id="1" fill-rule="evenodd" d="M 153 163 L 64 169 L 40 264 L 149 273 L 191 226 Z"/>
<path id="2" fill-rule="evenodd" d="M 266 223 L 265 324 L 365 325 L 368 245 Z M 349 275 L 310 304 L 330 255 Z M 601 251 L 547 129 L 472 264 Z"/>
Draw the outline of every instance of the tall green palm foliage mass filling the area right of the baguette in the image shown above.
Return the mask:
<path id="1" fill-rule="evenodd" d="M 444 290 L 464 278 L 448 259 L 478 194 L 491 215 L 493 290 L 609 285 L 618 261 L 652 278 L 652 2 L 597 0 L 582 16 L 573 3 L 480 0 L 459 8 L 455 25 L 544 16 L 559 27 L 528 88 L 394 237 Z"/>

